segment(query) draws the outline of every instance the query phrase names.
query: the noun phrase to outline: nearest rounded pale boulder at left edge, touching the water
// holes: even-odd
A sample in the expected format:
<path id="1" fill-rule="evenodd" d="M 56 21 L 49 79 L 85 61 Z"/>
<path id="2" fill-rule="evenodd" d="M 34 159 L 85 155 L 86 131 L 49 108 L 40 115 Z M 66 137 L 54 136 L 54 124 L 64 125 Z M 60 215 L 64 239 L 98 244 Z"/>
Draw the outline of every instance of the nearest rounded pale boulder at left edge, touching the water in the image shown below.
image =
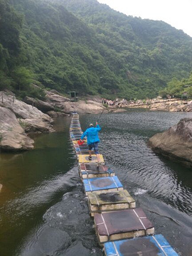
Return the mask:
<path id="1" fill-rule="evenodd" d="M 0 107 L 0 149 L 1 151 L 23 151 L 33 149 L 30 139 L 11 110 Z"/>

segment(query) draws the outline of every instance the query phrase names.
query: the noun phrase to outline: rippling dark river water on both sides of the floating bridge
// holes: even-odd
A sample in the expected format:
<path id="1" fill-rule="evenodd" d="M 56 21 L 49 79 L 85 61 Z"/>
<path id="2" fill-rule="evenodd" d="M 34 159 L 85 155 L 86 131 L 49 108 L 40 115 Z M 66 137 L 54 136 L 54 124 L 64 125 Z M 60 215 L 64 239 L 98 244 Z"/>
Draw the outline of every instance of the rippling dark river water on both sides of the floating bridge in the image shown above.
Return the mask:
<path id="1" fill-rule="evenodd" d="M 81 115 L 85 130 L 98 114 Z M 128 110 L 102 114 L 100 153 L 137 206 L 142 207 L 178 255 L 192 255 L 192 170 L 157 156 L 149 137 L 191 113 Z M 0 154 L 0 255 L 102 255 L 78 161 L 69 137 L 70 117 L 57 132 L 36 137 L 36 149 Z"/>

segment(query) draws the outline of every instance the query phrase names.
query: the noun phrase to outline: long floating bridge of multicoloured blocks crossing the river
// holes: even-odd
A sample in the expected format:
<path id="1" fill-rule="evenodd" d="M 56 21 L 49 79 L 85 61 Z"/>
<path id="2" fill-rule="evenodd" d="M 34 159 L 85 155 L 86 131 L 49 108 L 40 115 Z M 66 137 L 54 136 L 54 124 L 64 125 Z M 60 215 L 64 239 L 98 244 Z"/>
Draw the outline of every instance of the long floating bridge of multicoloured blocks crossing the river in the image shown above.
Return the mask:
<path id="1" fill-rule="evenodd" d="M 79 115 L 73 113 L 70 139 L 78 157 L 79 175 L 88 198 L 95 232 L 106 256 L 178 256 L 163 235 L 154 235 L 154 225 L 134 198 L 123 188 L 119 178 L 105 165 L 100 154 L 100 166 L 92 152 L 88 159 L 87 140 L 78 144 L 82 135 Z"/>

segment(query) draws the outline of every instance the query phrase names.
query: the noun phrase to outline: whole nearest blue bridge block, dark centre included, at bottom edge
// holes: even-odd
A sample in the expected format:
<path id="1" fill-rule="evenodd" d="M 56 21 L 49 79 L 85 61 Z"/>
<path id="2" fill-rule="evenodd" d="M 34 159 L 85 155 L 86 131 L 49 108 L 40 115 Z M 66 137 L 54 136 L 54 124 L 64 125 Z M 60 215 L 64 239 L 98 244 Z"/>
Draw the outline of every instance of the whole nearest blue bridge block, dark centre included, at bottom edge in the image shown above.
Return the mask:
<path id="1" fill-rule="evenodd" d="M 106 256 L 178 256 L 163 235 L 105 242 L 104 247 Z"/>

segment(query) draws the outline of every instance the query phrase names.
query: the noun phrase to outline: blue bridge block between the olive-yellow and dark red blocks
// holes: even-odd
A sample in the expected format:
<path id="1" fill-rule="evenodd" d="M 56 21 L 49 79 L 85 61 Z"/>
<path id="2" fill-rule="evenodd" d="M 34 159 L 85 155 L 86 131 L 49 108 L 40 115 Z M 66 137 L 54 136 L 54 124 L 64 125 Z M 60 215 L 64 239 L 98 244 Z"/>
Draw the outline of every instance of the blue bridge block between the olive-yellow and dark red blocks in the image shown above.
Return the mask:
<path id="1" fill-rule="evenodd" d="M 117 176 L 113 177 L 100 177 L 100 178 L 85 178 L 83 179 L 85 193 L 91 191 L 118 191 L 123 190 L 122 183 Z"/>

